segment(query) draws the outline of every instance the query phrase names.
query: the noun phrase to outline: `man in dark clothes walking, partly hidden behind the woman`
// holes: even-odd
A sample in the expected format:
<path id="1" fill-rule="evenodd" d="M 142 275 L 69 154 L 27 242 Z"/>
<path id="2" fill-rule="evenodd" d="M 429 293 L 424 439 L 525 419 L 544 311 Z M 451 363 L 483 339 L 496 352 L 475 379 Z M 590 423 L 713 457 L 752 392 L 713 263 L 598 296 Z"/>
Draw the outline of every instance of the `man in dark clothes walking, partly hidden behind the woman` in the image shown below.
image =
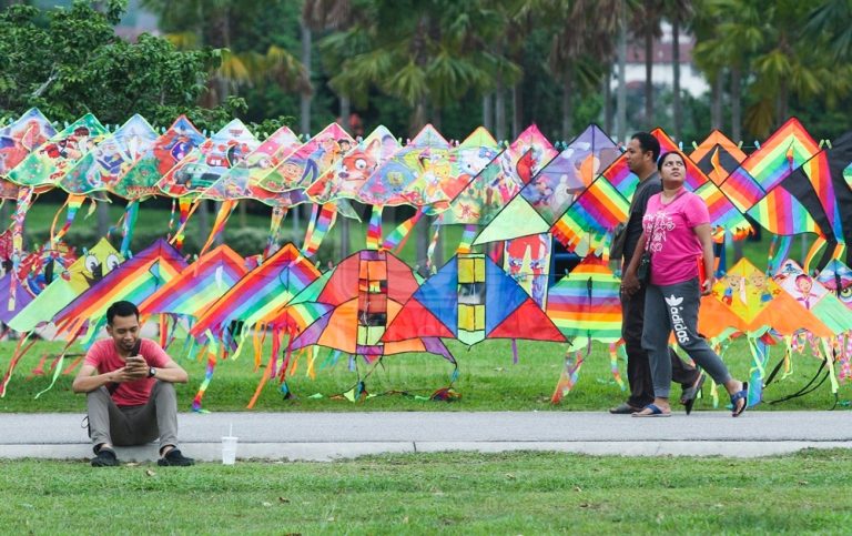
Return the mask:
<path id="1" fill-rule="evenodd" d="M 662 191 L 662 181 L 657 171 L 657 159 L 660 156 L 660 142 L 648 132 L 637 132 L 627 144 L 627 165 L 639 178 L 633 199 L 630 201 L 628 220 L 623 230 L 623 269 L 630 264 L 636 245 L 642 234 L 642 216 L 648 206 L 648 200 Z M 639 412 L 653 402 L 653 382 L 648 353 L 642 348 L 642 325 L 645 323 L 645 286 L 628 295 L 621 291 L 621 336 L 627 350 L 627 381 L 630 384 L 630 396 L 627 402 L 612 407 L 609 413 L 631 414 Z M 698 392 L 701 390 L 704 374 L 694 367 L 687 366 L 678 355 L 669 350 L 671 357 L 672 381 L 681 384 L 683 394 L 680 402 L 687 406 L 687 413 L 692 409 Z"/>

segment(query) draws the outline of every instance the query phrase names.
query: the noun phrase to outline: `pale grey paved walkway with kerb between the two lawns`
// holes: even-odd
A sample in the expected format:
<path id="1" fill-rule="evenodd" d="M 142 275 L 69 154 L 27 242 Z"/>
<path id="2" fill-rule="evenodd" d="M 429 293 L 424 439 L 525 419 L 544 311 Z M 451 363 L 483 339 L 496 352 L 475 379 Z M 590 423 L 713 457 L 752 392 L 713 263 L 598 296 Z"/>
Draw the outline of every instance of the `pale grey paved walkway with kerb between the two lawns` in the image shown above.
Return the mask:
<path id="1" fill-rule="evenodd" d="M 0 458 L 85 458 L 81 414 L 0 414 Z M 329 461 L 381 453 L 560 451 L 595 455 L 784 454 L 852 448 L 852 413 L 723 411 L 635 418 L 604 412 L 405 412 L 181 414 L 182 451 L 217 461 L 221 436 L 240 437 L 237 459 Z M 156 445 L 119 448 L 123 461 L 150 461 Z"/>

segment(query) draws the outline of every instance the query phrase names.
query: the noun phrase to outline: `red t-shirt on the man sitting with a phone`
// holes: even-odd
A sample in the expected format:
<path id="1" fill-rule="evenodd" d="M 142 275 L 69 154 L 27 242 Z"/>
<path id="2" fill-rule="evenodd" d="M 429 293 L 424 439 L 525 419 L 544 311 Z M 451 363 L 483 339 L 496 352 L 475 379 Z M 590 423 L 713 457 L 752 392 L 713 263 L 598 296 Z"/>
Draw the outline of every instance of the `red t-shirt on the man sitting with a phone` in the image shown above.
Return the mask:
<path id="1" fill-rule="evenodd" d="M 139 347 L 139 354 L 145 358 L 148 366 L 163 368 L 171 361 L 169 354 L 155 342 L 148 338 L 140 341 L 142 344 Z M 106 374 L 124 366 L 124 360 L 119 355 L 115 342 L 112 338 L 102 338 L 89 348 L 83 364 L 94 366 L 98 368 L 99 374 Z M 155 381 L 155 378 L 145 377 L 135 382 L 118 384 L 119 387 L 112 393 L 112 400 L 119 406 L 146 404 L 148 398 L 151 397 L 151 390 L 154 387 Z"/>

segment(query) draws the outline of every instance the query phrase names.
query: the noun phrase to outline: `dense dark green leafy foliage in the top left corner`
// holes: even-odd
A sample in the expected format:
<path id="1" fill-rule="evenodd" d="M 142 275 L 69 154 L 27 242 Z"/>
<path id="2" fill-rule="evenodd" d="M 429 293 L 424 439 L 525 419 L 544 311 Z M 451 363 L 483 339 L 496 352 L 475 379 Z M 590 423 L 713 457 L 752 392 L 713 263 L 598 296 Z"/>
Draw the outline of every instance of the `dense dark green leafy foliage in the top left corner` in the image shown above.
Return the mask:
<path id="1" fill-rule="evenodd" d="M 219 62 L 214 51 L 179 51 L 148 34 L 123 41 L 112 28 L 122 6 L 108 2 L 104 14 L 78 0 L 67 10 L 12 6 L 0 13 L 0 58 L 8 60 L 0 72 L 0 113 L 38 107 L 52 120 L 92 112 L 111 124 L 140 113 L 161 125 L 186 113 L 213 130 L 245 110 L 241 99 L 199 107 L 207 71 Z"/>

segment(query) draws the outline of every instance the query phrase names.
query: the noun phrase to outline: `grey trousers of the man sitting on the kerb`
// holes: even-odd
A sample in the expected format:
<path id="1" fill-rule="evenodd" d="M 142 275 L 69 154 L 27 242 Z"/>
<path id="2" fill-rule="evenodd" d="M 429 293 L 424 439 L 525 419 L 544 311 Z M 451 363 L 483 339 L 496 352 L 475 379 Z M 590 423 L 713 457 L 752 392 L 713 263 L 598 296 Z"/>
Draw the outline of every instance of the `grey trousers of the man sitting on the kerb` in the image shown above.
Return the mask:
<path id="1" fill-rule="evenodd" d="M 160 448 L 178 446 L 178 395 L 169 382 L 155 382 L 148 404 L 119 407 L 106 387 L 87 395 L 89 437 L 98 446 L 142 445 L 160 437 Z"/>

